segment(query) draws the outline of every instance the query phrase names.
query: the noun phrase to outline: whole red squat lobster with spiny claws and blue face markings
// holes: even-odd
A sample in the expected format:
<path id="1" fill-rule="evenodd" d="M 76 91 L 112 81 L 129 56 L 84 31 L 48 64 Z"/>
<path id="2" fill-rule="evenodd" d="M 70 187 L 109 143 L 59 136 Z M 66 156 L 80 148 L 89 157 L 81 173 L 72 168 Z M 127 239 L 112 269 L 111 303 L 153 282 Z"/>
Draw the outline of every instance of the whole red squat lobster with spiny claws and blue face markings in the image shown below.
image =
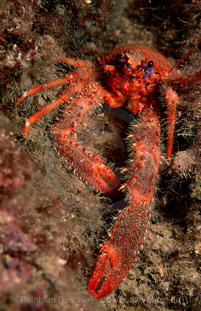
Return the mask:
<path id="1" fill-rule="evenodd" d="M 196 45 L 200 42 L 201 40 Z M 108 295 L 122 278 L 125 279 L 133 258 L 136 261 L 136 254 L 143 248 L 142 240 L 145 239 L 144 233 L 147 233 L 158 169 L 163 158 L 160 150 L 158 87 L 165 90 L 167 104 L 168 159 L 172 152 L 178 102 L 178 96 L 171 85 L 193 84 L 201 80 L 201 70 L 184 76 L 174 70 L 181 60 L 171 68 L 160 53 L 135 44 L 116 48 L 102 55 L 102 58 L 98 58 L 102 69 L 98 70 L 87 60 L 63 57 L 59 60 L 75 67 L 75 71 L 56 81 L 31 88 L 21 96 L 16 105 L 39 91 L 68 85 L 56 100 L 26 120 L 24 134 L 43 115 L 59 105 L 70 103 L 62 117 L 53 125 L 53 142 L 56 143 L 54 148 L 80 179 L 90 183 L 94 189 L 111 192 L 119 185 L 119 180 L 103 165 L 103 160 L 76 140 L 75 128 L 81 124 L 86 127 L 85 118 L 98 106 L 102 106 L 103 101 L 110 107 L 123 107 L 132 114 L 141 113 L 139 123 L 133 125 L 133 132 L 128 136 L 131 141 L 131 160 L 129 166 L 123 169 L 126 172 L 126 183 L 120 188 L 126 190 L 128 206 L 115 217 L 112 234 L 101 248 L 102 253 L 88 285 L 89 293 L 98 299 Z M 98 82 L 100 70 L 105 87 Z"/>

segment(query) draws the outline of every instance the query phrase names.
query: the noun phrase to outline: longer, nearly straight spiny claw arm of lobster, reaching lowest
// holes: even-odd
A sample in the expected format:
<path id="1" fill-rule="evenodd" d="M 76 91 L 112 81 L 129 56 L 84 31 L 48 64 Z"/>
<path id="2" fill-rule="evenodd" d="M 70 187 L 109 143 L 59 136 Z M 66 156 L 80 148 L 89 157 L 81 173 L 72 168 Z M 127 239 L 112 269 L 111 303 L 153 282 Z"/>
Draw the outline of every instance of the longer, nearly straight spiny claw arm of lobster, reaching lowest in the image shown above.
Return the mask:
<path id="1" fill-rule="evenodd" d="M 129 137 L 132 144 L 130 166 L 126 172 L 127 182 L 121 186 L 127 193 L 128 207 L 116 218 L 111 237 L 102 247 L 88 290 L 96 299 L 108 295 L 125 278 L 133 258 L 143 248 L 142 240 L 149 224 L 150 210 L 154 200 L 160 152 L 160 118 L 150 108 L 141 115 L 136 132 Z"/>

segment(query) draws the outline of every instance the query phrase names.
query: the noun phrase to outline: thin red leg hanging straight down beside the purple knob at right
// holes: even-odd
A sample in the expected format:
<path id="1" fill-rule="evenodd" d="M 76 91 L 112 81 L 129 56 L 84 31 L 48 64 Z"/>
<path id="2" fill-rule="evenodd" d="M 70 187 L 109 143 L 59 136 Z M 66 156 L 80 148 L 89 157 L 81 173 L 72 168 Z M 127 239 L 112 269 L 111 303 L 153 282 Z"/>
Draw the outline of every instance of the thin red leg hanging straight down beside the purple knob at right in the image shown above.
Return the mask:
<path id="1" fill-rule="evenodd" d="M 176 105 L 178 104 L 178 95 L 172 88 L 168 86 L 166 88 L 166 103 L 167 103 L 167 150 L 166 159 L 172 155 L 172 143 L 174 133 L 174 123 L 176 120 Z"/>

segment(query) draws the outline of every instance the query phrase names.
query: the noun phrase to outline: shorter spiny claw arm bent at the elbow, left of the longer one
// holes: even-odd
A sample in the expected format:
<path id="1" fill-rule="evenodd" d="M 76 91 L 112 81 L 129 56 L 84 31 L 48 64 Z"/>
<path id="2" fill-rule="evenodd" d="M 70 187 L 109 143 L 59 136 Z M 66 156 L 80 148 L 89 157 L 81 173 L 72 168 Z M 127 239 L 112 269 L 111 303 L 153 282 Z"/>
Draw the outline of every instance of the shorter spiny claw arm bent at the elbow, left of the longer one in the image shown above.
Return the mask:
<path id="1" fill-rule="evenodd" d="M 100 192 L 111 192 L 119 186 L 119 179 L 107 166 L 103 165 L 97 155 L 92 154 L 88 148 L 75 141 L 77 134 L 75 129 L 85 124 L 85 117 L 101 105 L 102 88 L 98 83 L 90 83 L 87 96 L 80 95 L 66 108 L 58 123 L 53 126 L 53 141 L 57 142 L 57 152 L 64 158 L 80 179 L 90 183 Z M 75 139 L 72 140 L 71 136 Z M 110 185 L 108 185 L 109 183 Z"/>

